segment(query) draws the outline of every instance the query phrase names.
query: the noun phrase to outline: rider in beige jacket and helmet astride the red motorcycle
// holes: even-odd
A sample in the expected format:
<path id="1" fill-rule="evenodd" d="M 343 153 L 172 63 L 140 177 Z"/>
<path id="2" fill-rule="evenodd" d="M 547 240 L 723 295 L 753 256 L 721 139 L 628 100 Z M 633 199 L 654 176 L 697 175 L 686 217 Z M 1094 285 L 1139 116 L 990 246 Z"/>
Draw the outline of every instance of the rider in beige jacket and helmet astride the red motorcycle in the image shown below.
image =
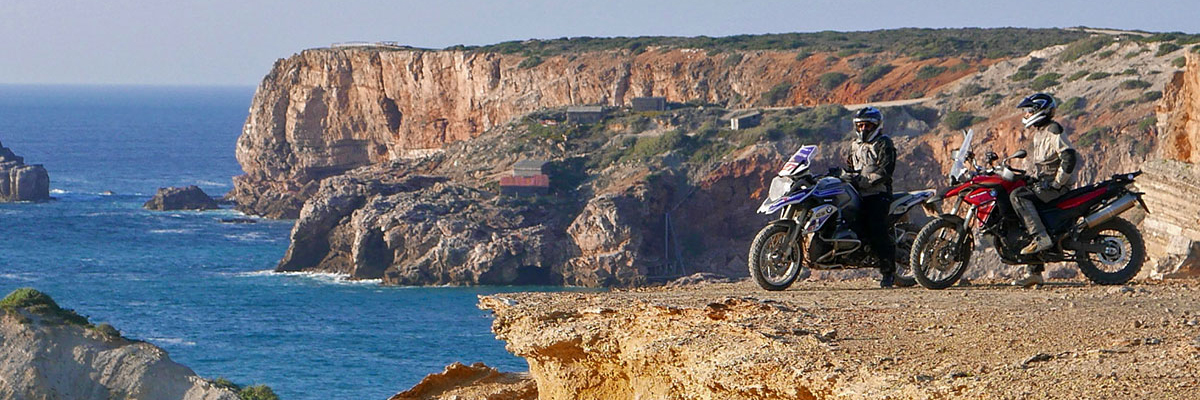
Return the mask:
<path id="1" fill-rule="evenodd" d="M 1042 216 L 1038 215 L 1036 201 L 1050 202 L 1058 198 L 1075 184 L 1075 172 L 1079 171 L 1079 154 L 1067 139 L 1062 125 L 1054 120 L 1057 102 L 1048 94 L 1034 94 L 1016 106 L 1025 111 L 1021 123 L 1026 130 L 1033 130 L 1033 148 L 1026 161 L 1030 171 L 1030 185 L 1019 187 L 1009 195 L 1013 210 L 1033 238 L 1032 243 L 1021 249 L 1022 255 L 1032 255 L 1054 246 L 1054 240 L 1046 233 Z M 1031 264 L 1026 275 L 1013 285 L 1030 287 L 1044 282 L 1043 264 Z"/>

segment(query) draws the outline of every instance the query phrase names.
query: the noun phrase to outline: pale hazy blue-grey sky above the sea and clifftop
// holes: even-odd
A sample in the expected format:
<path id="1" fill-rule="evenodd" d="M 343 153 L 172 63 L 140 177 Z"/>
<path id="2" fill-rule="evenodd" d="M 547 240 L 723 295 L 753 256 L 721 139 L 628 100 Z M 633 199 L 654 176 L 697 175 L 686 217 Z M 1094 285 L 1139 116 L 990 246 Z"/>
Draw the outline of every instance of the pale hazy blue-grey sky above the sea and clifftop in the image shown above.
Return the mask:
<path id="1" fill-rule="evenodd" d="M 1094 26 L 1200 32 L 1198 0 L 0 0 L 0 84 L 242 85 L 334 42 Z"/>

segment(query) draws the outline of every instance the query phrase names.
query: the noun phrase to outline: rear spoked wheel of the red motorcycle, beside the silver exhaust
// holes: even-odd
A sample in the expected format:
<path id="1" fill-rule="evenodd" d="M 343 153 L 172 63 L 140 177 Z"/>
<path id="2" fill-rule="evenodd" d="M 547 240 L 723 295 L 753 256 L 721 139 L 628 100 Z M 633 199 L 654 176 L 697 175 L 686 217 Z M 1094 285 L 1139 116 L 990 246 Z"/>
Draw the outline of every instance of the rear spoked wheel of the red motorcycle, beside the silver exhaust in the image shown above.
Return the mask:
<path id="1" fill-rule="evenodd" d="M 1121 285 L 1128 282 L 1146 261 L 1146 244 L 1132 222 L 1112 219 L 1080 233 L 1080 241 L 1098 252 L 1080 251 L 1075 255 L 1079 270 L 1092 282 Z"/>

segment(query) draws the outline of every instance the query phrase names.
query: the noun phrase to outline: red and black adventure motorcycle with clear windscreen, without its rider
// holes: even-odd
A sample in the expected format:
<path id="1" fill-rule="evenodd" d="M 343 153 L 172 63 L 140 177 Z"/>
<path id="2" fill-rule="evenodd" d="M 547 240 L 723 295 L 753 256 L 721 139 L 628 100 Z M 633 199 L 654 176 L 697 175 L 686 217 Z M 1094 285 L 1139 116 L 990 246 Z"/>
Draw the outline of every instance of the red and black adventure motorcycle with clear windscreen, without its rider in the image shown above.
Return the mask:
<path id="1" fill-rule="evenodd" d="M 1037 204 L 1054 246 L 1021 255 L 1032 238 L 1008 193 L 1030 185 L 1033 178 L 1009 167 L 1008 161 L 1025 155 L 1025 150 L 1016 151 L 995 166 L 1000 157 L 989 153 L 989 168 L 976 165 L 974 173 L 961 174 L 964 181 L 952 180 L 949 189 L 925 203 L 931 215 L 938 215 L 940 202 L 955 199 L 950 213 L 926 223 L 913 241 L 910 265 L 920 286 L 941 289 L 958 282 L 971 262 L 977 233 L 991 240 L 1006 264 L 1075 262 L 1087 279 L 1100 285 L 1121 285 L 1138 274 L 1146 246 L 1138 228 L 1118 215 L 1139 204 L 1146 209 L 1142 193 L 1129 187 L 1141 172 L 1116 174 Z M 968 157 L 974 165 L 973 156 Z"/>

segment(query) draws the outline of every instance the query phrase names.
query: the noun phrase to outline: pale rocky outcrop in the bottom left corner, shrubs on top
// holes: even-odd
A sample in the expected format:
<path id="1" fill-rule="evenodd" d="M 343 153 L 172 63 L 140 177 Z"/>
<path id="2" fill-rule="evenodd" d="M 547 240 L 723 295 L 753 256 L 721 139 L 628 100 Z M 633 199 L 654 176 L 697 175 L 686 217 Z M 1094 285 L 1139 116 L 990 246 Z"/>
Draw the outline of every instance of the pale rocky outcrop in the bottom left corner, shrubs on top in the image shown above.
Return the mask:
<path id="1" fill-rule="evenodd" d="M 0 302 L 0 398 L 238 400 L 167 352 L 18 289 Z"/>

